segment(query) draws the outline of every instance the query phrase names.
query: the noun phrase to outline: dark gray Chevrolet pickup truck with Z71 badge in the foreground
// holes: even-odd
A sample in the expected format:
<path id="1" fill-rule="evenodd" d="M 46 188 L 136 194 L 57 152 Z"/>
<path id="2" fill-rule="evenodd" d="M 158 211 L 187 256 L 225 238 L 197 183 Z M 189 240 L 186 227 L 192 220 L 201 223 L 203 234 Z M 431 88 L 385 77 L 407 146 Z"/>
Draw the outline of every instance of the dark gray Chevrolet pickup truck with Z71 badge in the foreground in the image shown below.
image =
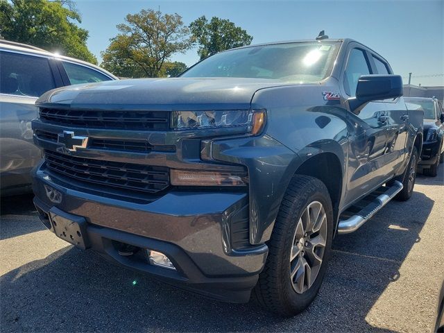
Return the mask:
<path id="1" fill-rule="evenodd" d="M 349 39 L 244 46 L 37 107 L 35 206 L 56 236 L 284 316 L 315 298 L 336 234 L 410 198 L 422 147 L 401 77 Z"/>

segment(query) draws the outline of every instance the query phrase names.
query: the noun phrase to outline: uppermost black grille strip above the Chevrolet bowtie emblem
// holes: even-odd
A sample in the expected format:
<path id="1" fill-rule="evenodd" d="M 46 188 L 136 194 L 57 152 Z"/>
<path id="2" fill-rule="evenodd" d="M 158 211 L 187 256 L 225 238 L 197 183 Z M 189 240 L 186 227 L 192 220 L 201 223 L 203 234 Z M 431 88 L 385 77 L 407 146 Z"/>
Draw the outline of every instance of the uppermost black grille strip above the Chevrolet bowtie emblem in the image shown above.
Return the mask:
<path id="1" fill-rule="evenodd" d="M 40 120 L 56 125 L 120 130 L 168 130 L 166 111 L 63 110 L 40 108 Z"/>

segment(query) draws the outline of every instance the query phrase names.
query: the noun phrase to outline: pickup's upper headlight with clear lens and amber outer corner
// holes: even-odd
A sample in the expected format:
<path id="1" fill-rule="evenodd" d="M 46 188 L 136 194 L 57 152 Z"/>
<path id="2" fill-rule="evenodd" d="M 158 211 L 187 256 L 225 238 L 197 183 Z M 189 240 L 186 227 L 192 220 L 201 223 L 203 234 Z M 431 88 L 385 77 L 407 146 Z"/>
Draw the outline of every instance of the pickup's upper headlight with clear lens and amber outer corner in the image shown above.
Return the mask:
<path id="1" fill-rule="evenodd" d="M 177 130 L 193 128 L 245 127 L 256 135 L 264 128 L 265 110 L 173 111 L 171 127 Z"/>

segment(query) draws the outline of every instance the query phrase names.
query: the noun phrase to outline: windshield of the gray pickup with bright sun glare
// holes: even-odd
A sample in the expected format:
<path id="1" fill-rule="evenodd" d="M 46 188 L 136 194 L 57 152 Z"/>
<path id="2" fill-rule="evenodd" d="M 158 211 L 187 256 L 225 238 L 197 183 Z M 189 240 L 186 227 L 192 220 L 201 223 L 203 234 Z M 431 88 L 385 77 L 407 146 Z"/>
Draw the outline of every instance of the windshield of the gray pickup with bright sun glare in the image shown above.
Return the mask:
<path id="1" fill-rule="evenodd" d="M 268 78 L 311 83 L 330 75 L 339 43 L 298 42 L 252 46 L 217 53 L 182 78 Z"/>

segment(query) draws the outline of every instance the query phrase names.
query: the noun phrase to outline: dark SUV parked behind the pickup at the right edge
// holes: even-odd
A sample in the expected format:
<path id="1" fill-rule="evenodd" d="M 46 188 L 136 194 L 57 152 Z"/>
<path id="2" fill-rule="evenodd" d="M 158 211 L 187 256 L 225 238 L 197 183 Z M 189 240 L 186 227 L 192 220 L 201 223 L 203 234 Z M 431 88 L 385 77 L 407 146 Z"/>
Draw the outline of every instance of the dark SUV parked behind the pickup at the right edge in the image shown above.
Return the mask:
<path id="1" fill-rule="evenodd" d="M 409 110 L 424 112 L 424 142 L 418 169 L 428 176 L 438 174 L 438 166 L 444 161 L 444 111 L 437 99 L 406 97 Z"/>

